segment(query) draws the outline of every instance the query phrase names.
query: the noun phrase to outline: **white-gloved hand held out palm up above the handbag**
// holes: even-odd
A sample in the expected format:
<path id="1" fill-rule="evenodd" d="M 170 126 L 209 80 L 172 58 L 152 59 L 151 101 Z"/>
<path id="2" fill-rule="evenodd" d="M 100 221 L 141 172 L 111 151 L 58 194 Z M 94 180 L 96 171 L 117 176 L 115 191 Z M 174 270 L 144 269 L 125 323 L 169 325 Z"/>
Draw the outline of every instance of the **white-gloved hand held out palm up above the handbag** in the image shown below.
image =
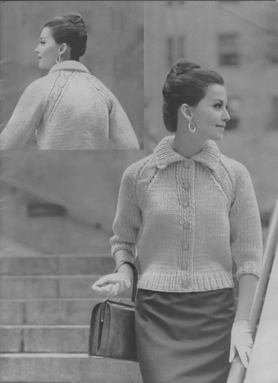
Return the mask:
<path id="1" fill-rule="evenodd" d="M 118 271 L 117 273 L 100 277 L 92 285 L 92 289 L 100 295 L 111 298 L 125 290 L 128 290 L 130 286 L 131 280 L 129 276 L 123 272 Z"/>

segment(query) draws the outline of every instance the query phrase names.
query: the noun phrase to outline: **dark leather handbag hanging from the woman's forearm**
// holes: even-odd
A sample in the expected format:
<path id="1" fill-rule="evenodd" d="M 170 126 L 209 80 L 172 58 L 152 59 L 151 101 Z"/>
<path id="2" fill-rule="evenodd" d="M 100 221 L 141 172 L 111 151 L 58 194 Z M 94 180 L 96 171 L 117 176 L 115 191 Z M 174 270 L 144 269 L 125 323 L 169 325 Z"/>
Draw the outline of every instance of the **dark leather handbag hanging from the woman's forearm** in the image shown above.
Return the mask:
<path id="1" fill-rule="evenodd" d="M 131 304 L 106 299 L 93 307 L 88 355 L 138 362 L 134 309 L 138 273 L 136 267 L 128 261 L 119 262 L 113 273 L 123 264 L 129 264 L 133 270 Z"/>

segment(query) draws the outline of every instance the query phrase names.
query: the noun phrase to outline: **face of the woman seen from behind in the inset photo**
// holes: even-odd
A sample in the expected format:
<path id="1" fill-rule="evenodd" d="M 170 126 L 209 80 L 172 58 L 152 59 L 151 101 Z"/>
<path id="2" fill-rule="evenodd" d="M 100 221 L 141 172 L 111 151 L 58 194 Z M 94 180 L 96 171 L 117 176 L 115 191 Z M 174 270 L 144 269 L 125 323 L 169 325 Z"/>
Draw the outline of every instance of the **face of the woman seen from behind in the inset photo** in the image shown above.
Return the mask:
<path id="1" fill-rule="evenodd" d="M 56 64 L 55 59 L 59 56 L 60 46 L 52 37 L 51 29 L 43 28 L 40 35 L 40 43 L 35 49 L 35 52 L 38 54 L 39 68 L 50 69 Z"/>

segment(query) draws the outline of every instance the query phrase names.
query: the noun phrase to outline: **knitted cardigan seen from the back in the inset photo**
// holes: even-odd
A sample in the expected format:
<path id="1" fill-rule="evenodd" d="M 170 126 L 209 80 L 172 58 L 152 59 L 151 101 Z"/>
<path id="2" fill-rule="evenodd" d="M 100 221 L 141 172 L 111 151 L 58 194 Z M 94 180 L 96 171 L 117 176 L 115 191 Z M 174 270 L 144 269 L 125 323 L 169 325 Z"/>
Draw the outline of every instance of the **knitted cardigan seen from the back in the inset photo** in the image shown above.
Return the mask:
<path id="1" fill-rule="evenodd" d="M 34 81 L 0 135 L 0 149 L 20 149 L 36 130 L 39 149 L 139 149 L 131 123 L 115 95 L 80 62 L 54 65 Z"/>

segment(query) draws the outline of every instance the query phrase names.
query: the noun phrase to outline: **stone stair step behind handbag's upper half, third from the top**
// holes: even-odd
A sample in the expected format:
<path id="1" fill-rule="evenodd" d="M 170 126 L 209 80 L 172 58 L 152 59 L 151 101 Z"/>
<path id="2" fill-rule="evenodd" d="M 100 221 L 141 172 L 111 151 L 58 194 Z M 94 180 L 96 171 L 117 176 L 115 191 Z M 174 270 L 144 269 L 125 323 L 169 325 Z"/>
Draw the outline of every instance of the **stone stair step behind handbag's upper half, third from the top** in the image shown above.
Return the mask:
<path id="1" fill-rule="evenodd" d="M 93 306 L 103 299 L 2 299 L 0 323 L 1 325 L 89 325 Z M 122 301 L 130 303 L 129 298 L 123 298 Z"/>

